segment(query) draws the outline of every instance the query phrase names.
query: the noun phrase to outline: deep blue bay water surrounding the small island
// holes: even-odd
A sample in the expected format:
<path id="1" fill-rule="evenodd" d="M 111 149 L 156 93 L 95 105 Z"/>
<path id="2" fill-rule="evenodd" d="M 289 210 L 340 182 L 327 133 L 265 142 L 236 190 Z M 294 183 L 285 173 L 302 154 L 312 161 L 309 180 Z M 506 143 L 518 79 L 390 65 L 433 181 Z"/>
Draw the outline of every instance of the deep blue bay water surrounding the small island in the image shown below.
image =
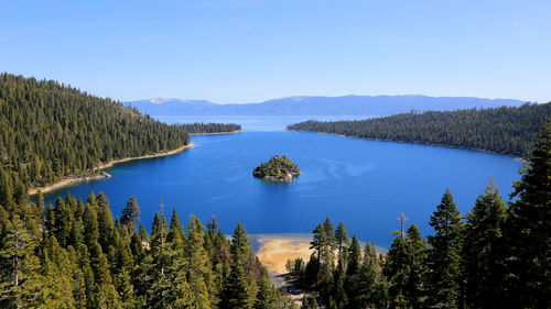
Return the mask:
<path id="1" fill-rule="evenodd" d="M 268 126 L 282 129 L 283 122 Z M 215 214 L 226 233 L 237 222 L 250 233 L 310 233 L 328 217 L 335 227 L 343 221 L 350 236 L 388 247 L 401 211 L 425 236 L 447 187 L 465 214 L 491 176 L 507 196 L 521 166 L 482 152 L 301 132 L 196 135 L 192 142 L 197 146 L 174 156 L 116 165 L 108 170 L 112 178 L 54 191 L 46 202 L 66 191 L 84 200 L 90 190 L 104 191 L 120 216 L 133 195 L 149 229 L 163 199 L 168 217 L 176 208 L 182 221 L 195 213 L 206 224 Z M 299 165 L 298 180 L 252 177 L 253 167 L 274 154 Z"/>

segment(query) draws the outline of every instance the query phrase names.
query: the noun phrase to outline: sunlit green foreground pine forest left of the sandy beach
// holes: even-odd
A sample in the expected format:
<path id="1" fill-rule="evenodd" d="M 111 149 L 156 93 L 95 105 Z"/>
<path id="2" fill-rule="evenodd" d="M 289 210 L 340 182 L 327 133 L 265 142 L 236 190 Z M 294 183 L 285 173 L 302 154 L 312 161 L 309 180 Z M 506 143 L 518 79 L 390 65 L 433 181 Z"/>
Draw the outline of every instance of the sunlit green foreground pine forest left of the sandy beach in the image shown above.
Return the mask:
<path id="1" fill-rule="evenodd" d="M 108 198 L 67 195 L 46 208 L 0 206 L 1 308 L 287 308 L 240 224 L 231 241 L 174 210 L 151 234 L 130 197 L 114 222 Z"/>

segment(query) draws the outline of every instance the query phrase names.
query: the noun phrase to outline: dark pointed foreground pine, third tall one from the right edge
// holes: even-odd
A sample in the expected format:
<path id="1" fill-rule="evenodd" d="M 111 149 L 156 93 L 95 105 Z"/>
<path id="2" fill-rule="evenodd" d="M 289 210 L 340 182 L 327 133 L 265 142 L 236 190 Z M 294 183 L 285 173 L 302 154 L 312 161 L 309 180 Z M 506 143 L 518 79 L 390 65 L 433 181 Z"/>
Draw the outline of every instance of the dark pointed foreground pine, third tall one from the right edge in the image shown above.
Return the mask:
<path id="1" fill-rule="evenodd" d="M 442 202 L 431 216 L 430 225 L 435 234 L 428 238 L 429 295 L 428 305 L 441 308 L 457 308 L 461 302 L 461 246 L 463 222 L 447 189 Z"/>

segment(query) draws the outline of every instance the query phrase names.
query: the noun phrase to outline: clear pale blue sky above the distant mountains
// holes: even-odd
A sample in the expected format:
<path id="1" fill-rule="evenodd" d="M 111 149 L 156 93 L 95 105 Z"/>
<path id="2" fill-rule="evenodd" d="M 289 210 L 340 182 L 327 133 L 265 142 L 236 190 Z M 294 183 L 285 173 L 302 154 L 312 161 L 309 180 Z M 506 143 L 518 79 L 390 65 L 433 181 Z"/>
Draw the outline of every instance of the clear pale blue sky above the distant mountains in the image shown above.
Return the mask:
<path id="1" fill-rule="evenodd" d="M 551 1 L 0 0 L 0 71 L 118 100 L 551 101 Z"/>

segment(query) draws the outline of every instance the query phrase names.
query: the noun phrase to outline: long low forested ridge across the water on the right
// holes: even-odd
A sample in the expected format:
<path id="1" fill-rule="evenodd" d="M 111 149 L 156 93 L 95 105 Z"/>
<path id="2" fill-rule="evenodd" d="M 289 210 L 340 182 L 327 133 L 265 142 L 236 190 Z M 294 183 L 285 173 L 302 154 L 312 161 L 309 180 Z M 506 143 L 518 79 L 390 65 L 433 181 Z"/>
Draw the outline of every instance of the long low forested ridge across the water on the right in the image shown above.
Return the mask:
<path id="1" fill-rule="evenodd" d="M 528 158 L 551 103 L 402 113 L 356 121 L 305 121 L 292 131 L 482 150 Z"/>

